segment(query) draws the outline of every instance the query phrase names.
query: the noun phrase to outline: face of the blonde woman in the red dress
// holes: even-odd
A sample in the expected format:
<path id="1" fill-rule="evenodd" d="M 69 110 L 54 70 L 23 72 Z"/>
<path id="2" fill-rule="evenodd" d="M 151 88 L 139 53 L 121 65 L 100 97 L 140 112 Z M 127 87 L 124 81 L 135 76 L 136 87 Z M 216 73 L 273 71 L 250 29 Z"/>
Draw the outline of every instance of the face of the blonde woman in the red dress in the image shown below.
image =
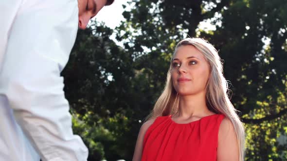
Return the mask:
<path id="1" fill-rule="evenodd" d="M 184 45 L 177 49 L 172 60 L 171 79 L 181 96 L 205 92 L 210 65 L 197 48 Z"/>

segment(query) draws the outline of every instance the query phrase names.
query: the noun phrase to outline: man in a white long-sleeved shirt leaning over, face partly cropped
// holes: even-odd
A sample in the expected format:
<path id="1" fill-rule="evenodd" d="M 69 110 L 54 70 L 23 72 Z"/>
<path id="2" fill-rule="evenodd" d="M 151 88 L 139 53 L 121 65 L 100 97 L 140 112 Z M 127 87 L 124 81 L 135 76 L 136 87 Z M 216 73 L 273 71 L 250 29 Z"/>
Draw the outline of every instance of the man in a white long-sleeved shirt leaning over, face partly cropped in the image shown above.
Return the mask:
<path id="1" fill-rule="evenodd" d="M 77 28 L 113 1 L 0 1 L 0 161 L 87 161 L 60 72 Z"/>

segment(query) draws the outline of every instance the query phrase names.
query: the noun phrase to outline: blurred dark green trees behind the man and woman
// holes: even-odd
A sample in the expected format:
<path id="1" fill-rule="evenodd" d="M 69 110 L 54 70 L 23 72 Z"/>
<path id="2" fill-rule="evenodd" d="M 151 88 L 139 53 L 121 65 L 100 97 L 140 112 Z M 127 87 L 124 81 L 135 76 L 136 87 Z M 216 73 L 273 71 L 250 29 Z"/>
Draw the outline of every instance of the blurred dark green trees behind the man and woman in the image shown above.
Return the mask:
<path id="1" fill-rule="evenodd" d="M 62 72 L 89 161 L 131 161 L 172 52 L 188 36 L 207 39 L 224 60 L 246 128 L 246 161 L 287 161 L 287 0 L 129 0 L 123 7 L 114 30 L 93 21 L 78 32 Z"/>

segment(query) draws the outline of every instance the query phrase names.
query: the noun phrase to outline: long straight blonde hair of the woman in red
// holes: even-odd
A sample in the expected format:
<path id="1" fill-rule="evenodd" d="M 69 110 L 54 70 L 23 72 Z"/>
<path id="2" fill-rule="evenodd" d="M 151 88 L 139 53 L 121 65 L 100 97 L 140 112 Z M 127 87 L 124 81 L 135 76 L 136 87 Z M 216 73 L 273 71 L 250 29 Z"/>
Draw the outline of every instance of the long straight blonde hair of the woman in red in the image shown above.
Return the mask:
<path id="1" fill-rule="evenodd" d="M 161 96 L 156 101 L 150 119 L 158 116 L 175 114 L 179 107 L 179 95 L 173 87 L 171 79 L 171 65 L 173 57 L 180 46 L 192 45 L 206 58 L 210 65 L 210 78 L 206 87 L 206 104 L 209 110 L 224 114 L 232 123 L 237 137 L 239 148 L 239 161 L 244 160 L 245 132 L 237 110 L 233 107 L 228 95 L 228 83 L 223 76 L 223 66 L 217 50 L 207 41 L 201 38 L 186 38 L 181 40 L 172 56 L 170 68 L 167 72 L 166 84 Z"/>

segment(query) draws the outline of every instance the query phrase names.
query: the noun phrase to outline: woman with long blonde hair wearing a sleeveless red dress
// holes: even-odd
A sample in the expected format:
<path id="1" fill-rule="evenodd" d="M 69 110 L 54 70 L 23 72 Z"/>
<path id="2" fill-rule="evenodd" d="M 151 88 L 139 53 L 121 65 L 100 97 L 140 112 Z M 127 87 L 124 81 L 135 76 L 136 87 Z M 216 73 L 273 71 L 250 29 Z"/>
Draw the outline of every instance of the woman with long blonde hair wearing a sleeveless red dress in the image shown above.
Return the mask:
<path id="1" fill-rule="evenodd" d="M 216 49 L 179 42 L 165 88 L 140 129 L 133 161 L 243 161 L 244 127 Z"/>

